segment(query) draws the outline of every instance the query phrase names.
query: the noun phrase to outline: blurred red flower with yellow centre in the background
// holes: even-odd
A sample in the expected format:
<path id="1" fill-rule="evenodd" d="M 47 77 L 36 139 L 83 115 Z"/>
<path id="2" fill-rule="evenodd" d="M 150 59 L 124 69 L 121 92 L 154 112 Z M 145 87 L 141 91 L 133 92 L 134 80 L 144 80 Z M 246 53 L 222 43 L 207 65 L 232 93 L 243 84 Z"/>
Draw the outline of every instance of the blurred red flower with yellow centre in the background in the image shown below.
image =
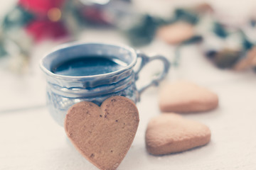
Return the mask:
<path id="1" fill-rule="evenodd" d="M 65 0 L 19 0 L 18 4 L 33 13 L 33 20 L 25 27 L 36 42 L 46 38 L 62 38 L 68 30 L 61 21 Z"/>

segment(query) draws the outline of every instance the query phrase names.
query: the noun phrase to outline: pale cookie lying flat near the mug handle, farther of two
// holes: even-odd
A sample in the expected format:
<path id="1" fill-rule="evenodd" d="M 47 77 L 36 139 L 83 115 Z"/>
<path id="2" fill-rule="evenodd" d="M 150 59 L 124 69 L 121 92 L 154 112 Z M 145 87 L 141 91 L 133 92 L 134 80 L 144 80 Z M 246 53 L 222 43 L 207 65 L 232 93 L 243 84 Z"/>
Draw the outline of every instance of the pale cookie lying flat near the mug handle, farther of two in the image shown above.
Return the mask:
<path id="1" fill-rule="evenodd" d="M 159 107 L 163 112 L 210 111 L 218 106 L 218 96 L 188 81 L 168 83 L 161 88 Z"/>

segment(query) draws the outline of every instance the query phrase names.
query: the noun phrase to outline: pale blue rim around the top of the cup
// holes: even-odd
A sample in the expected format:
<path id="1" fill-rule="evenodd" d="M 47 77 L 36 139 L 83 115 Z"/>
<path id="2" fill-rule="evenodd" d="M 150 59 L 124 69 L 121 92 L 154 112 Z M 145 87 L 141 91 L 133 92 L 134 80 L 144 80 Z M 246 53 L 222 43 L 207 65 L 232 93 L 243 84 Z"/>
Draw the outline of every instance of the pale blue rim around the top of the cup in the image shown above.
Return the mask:
<path id="1" fill-rule="evenodd" d="M 129 63 L 126 67 L 124 67 L 122 69 L 118 69 L 117 71 L 108 72 L 105 74 L 95 74 L 95 75 L 90 75 L 90 76 L 66 76 L 66 75 L 55 74 L 53 72 L 50 72 L 50 70 L 46 69 L 46 67 L 43 65 L 43 61 L 46 60 L 46 57 L 48 57 L 53 52 L 57 52 L 58 50 L 63 50 L 66 47 L 75 47 L 77 45 L 107 45 L 107 46 L 114 46 L 114 47 L 122 47 L 123 49 L 131 52 L 133 59 L 132 59 L 132 62 Z M 58 45 L 58 46 L 54 47 L 53 50 L 50 50 L 50 52 L 46 53 L 46 55 L 43 55 L 43 57 L 41 58 L 41 60 L 39 62 L 39 65 L 40 65 L 41 69 L 43 70 L 43 72 L 45 72 L 46 74 L 48 74 L 51 77 L 55 77 L 55 78 L 59 78 L 59 79 L 91 79 L 91 78 L 100 78 L 100 77 L 111 77 L 112 75 L 122 73 L 125 70 L 134 67 L 136 62 L 137 62 L 137 52 L 132 47 L 129 47 L 128 45 L 122 45 L 122 44 L 117 45 L 117 44 L 105 43 L 105 42 L 75 41 L 75 42 L 67 42 L 62 45 Z"/>

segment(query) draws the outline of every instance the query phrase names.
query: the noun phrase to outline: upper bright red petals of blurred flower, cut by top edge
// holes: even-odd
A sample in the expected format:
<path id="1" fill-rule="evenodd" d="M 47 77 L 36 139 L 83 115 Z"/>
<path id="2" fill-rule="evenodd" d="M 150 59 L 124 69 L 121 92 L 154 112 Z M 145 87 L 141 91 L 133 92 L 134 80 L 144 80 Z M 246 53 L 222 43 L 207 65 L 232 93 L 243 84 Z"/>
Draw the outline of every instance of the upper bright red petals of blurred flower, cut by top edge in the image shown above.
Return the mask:
<path id="1" fill-rule="evenodd" d="M 31 13 L 46 16 L 51 8 L 61 8 L 65 0 L 19 0 L 18 4 Z"/>

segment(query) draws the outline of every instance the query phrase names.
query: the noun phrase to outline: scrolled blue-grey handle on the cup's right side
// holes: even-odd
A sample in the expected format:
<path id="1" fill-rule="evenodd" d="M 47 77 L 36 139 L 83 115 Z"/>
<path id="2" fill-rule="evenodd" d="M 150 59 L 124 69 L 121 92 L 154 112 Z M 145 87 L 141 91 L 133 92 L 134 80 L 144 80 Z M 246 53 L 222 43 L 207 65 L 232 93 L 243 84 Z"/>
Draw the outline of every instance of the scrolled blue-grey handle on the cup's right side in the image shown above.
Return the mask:
<path id="1" fill-rule="evenodd" d="M 137 52 L 137 57 L 142 58 L 142 62 L 139 66 L 139 69 L 137 71 L 135 71 L 135 81 L 137 81 L 139 79 L 139 72 L 149 62 L 151 62 L 153 60 L 161 60 L 161 62 L 164 63 L 164 70 L 161 73 L 161 75 L 159 77 L 157 77 L 156 79 L 153 79 L 149 84 L 146 84 L 145 86 L 142 86 L 142 88 L 138 90 L 139 91 L 139 96 L 140 96 L 142 94 L 142 92 L 144 90 L 146 90 L 147 88 L 149 88 L 150 86 L 158 86 L 159 85 L 159 82 L 166 77 L 171 64 L 170 64 L 169 60 L 166 59 L 166 57 L 161 56 L 161 55 L 154 55 L 152 57 L 149 57 L 149 56 L 145 55 L 142 52 Z"/>

